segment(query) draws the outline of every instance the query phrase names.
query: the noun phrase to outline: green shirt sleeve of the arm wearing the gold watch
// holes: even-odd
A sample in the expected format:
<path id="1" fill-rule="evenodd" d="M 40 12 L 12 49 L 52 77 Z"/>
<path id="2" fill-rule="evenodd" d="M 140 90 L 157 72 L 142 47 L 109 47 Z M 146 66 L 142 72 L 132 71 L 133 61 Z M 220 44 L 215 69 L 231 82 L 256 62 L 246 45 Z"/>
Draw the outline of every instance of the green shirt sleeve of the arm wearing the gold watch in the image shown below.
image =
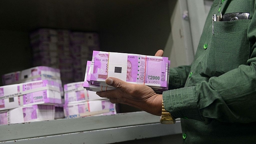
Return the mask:
<path id="1" fill-rule="evenodd" d="M 240 65 L 195 86 L 163 92 L 164 106 L 175 118 L 187 117 L 206 123 L 256 122 L 256 14 L 248 28 L 251 45 L 247 65 Z"/>

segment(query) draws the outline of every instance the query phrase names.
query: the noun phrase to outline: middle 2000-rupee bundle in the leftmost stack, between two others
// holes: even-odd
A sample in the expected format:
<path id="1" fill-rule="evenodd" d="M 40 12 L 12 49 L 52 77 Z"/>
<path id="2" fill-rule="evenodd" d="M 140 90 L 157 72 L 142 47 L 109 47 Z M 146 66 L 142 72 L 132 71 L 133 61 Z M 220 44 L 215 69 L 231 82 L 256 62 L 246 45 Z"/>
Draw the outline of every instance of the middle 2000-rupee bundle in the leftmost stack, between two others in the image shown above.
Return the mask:
<path id="1" fill-rule="evenodd" d="M 50 80 L 0 86 L 0 110 L 35 104 L 61 104 L 60 86 Z"/>

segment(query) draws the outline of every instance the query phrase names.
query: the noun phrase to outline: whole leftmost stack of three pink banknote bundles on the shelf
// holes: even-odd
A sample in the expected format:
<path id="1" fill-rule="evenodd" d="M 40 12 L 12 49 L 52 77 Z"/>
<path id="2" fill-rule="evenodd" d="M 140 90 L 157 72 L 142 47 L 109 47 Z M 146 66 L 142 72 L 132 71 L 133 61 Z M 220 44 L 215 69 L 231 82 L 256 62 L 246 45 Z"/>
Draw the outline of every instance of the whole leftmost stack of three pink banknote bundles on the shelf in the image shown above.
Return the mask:
<path id="1" fill-rule="evenodd" d="M 38 66 L 4 74 L 0 86 L 0 124 L 53 120 L 63 107 L 60 70 Z M 62 108 L 63 113 L 63 108 Z M 62 115 L 62 116 L 61 116 Z"/>

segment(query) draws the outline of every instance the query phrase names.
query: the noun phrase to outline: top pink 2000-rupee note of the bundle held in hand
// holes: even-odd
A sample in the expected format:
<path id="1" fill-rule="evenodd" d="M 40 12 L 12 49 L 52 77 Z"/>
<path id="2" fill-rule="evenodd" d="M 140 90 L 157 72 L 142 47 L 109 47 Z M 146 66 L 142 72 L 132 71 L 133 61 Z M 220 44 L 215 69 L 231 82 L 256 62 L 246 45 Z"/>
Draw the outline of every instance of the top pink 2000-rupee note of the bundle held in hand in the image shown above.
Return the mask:
<path id="1" fill-rule="evenodd" d="M 115 63 L 109 62 L 110 54 L 112 53 L 101 51 L 93 52 L 90 80 L 104 82 L 108 76 L 111 76 L 109 72 L 124 72 L 126 74 L 126 82 L 146 84 L 148 86 L 167 86 L 167 57 L 127 54 L 126 58 L 120 57 L 120 59 L 126 59 L 126 67 L 119 67 L 118 65 L 120 65 L 120 63 L 118 62 L 120 60 L 116 60 Z M 115 53 L 115 55 L 118 55 L 118 53 Z"/>

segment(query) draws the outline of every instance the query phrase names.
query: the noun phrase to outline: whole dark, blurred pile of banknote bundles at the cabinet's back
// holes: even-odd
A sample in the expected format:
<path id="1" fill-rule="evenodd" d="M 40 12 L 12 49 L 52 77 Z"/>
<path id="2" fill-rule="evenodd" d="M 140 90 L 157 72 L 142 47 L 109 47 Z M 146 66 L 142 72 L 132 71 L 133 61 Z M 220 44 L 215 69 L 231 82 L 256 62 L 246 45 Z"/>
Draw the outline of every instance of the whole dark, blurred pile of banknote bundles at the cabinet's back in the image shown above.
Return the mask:
<path id="1" fill-rule="evenodd" d="M 33 66 L 60 69 L 62 84 L 84 80 L 86 61 L 99 50 L 96 32 L 40 28 L 30 33 Z"/>

